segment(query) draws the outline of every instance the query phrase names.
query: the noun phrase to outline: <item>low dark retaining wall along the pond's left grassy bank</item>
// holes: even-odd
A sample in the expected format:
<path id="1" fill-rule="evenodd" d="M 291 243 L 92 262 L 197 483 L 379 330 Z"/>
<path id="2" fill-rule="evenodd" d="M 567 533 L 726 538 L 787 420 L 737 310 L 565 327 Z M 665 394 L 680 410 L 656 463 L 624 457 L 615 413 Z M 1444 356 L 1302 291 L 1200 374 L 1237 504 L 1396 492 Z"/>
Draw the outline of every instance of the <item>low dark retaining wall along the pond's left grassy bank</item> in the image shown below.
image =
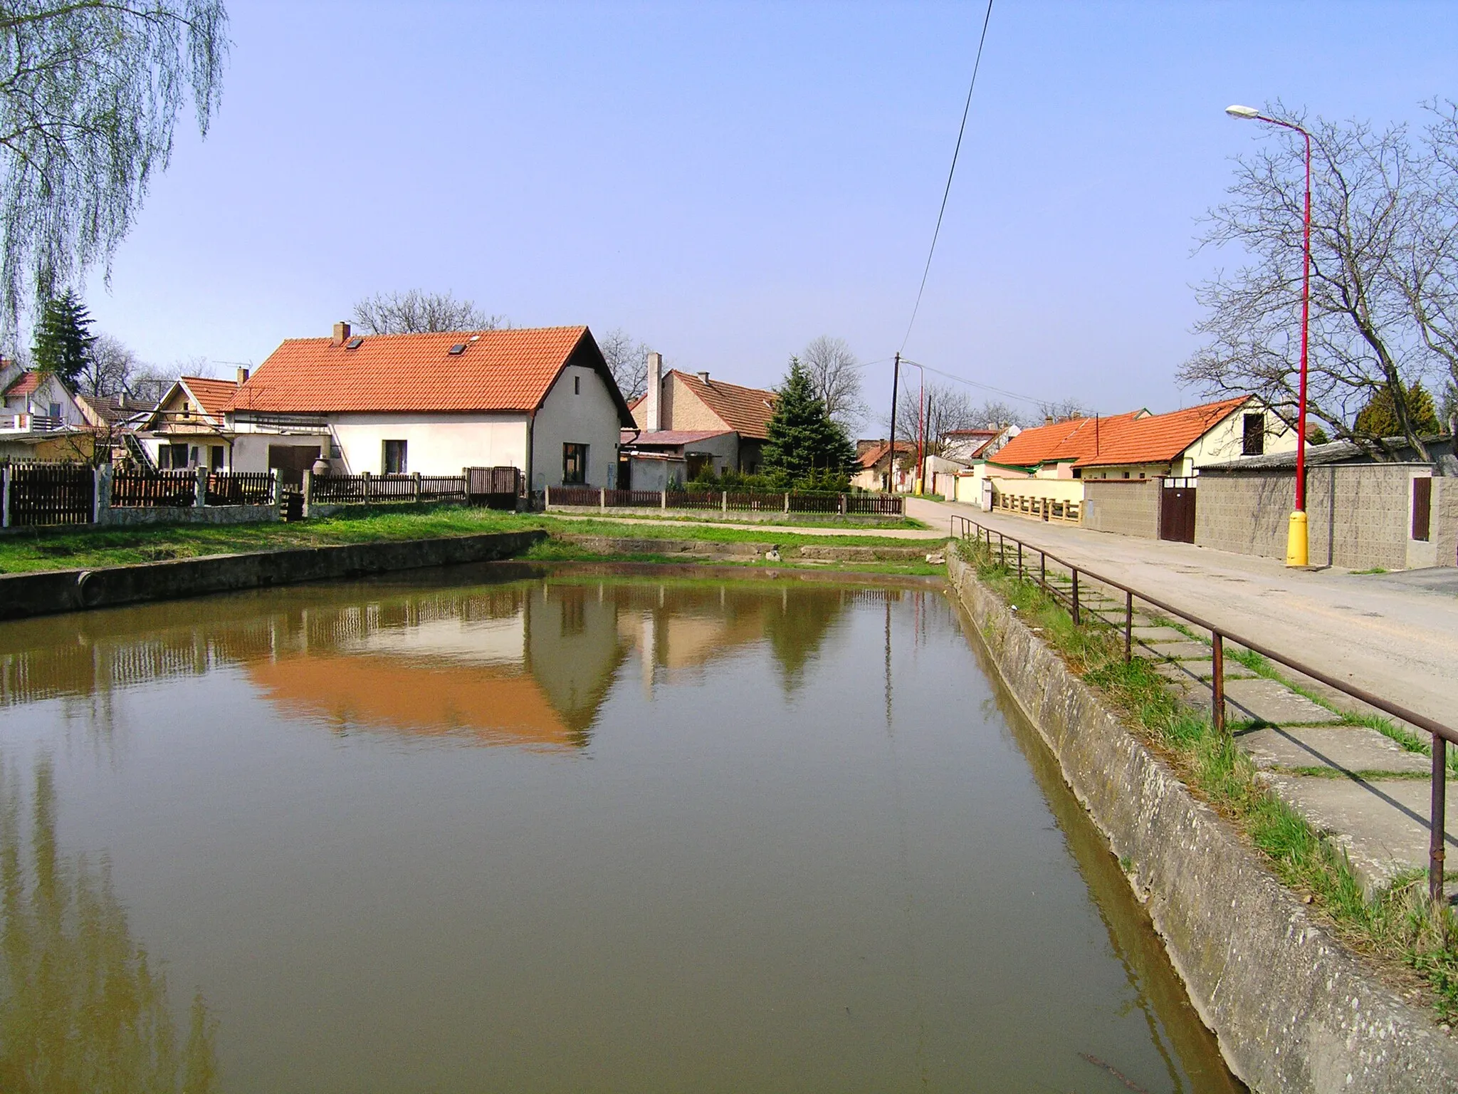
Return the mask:
<path id="1" fill-rule="evenodd" d="M 206 559 L 178 559 L 96 570 L 6 575 L 0 576 L 0 618 L 507 559 L 545 535 L 539 531 L 494 532 L 439 540 L 214 554 Z"/>

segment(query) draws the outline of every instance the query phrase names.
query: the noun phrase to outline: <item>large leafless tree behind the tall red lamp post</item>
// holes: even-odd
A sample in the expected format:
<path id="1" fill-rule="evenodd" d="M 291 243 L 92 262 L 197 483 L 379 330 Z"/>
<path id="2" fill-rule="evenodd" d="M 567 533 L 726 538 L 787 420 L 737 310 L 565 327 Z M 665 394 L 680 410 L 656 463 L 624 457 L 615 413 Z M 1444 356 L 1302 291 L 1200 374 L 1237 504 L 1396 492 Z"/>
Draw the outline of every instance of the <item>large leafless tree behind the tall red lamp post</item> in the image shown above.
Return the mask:
<path id="1" fill-rule="evenodd" d="M 1305 123 L 1280 104 L 1267 114 Z M 1414 200 L 1429 163 L 1413 156 L 1403 125 L 1378 133 L 1365 123 L 1317 120 L 1306 128 L 1312 136 L 1308 414 L 1338 438 L 1382 451 L 1382 438 L 1354 427 L 1357 410 L 1382 392 L 1392 400 L 1404 436 L 1426 458 L 1406 397 L 1429 366 L 1430 350 L 1413 321 L 1413 296 L 1424 290 L 1404 289 L 1395 270 L 1416 226 Z M 1301 357 L 1303 187 L 1303 146 L 1289 130 L 1263 134 L 1254 155 L 1236 159 L 1231 198 L 1210 210 L 1200 244 L 1235 244 L 1250 261 L 1197 287 L 1209 309 L 1196 325 L 1206 346 L 1178 373 L 1207 394 L 1255 392 L 1290 426 Z M 1435 257 L 1423 261 L 1432 264 Z"/>

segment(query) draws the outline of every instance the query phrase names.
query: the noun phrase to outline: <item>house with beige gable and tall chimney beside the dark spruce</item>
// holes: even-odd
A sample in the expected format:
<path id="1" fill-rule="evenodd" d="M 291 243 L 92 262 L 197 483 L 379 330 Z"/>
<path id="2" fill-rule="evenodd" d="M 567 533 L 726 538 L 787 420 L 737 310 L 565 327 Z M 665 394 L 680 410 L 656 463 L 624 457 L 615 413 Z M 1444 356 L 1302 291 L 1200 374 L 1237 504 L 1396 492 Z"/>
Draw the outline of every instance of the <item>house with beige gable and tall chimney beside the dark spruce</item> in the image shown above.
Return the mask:
<path id="1" fill-rule="evenodd" d="M 663 372 L 658 353 L 647 354 L 647 392 L 633 404 L 637 435 L 628 442 L 631 449 L 659 451 L 675 443 L 660 441 L 659 433 L 695 433 L 697 441 L 678 445 L 678 455 L 691 467 L 712 461 L 719 473 L 760 471 L 774 416 L 773 391 L 726 384 L 707 372 Z"/>

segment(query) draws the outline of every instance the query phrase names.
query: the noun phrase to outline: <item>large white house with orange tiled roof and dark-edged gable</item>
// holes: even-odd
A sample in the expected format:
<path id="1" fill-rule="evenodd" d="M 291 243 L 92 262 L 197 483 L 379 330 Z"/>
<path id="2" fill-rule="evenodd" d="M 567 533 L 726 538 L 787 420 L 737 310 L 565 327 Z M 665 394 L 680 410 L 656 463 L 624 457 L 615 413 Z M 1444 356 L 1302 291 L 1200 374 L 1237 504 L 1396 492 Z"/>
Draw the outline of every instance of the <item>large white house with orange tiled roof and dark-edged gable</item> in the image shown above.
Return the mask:
<path id="1" fill-rule="evenodd" d="M 232 465 L 297 481 L 516 467 L 534 490 L 614 486 L 633 416 L 586 327 L 290 338 L 232 394 Z"/>

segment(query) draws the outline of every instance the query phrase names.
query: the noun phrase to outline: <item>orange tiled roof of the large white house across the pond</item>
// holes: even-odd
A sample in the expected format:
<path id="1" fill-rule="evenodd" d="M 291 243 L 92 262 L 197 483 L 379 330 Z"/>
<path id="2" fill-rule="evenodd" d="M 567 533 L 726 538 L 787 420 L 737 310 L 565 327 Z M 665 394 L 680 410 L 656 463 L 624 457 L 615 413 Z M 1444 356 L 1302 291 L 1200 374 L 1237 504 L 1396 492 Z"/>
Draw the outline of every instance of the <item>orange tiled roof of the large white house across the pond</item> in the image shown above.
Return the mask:
<path id="1" fill-rule="evenodd" d="M 238 388 L 227 408 L 529 411 L 590 338 L 586 327 L 366 334 L 353 350 L 346 349 L 348 341 L 289 338 Z M 467 349 L 452 356 L 458 344 Z"/>

